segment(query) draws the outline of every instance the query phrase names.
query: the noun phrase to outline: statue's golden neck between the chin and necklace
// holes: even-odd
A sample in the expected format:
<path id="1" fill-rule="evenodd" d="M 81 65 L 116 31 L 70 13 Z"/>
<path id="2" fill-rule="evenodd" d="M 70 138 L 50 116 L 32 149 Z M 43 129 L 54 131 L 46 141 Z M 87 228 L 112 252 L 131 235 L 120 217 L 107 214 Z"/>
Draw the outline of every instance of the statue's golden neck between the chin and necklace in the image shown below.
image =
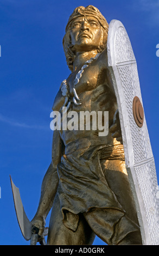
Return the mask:
<path id="1" fill-rule="evenodd" d="M 86 62 L 88 59 L 94 58 L 97 55 L 97 50 L 89 52 L 78 52 L 73 62 L 73 70 L 75 71 L 79 65 Z"/>

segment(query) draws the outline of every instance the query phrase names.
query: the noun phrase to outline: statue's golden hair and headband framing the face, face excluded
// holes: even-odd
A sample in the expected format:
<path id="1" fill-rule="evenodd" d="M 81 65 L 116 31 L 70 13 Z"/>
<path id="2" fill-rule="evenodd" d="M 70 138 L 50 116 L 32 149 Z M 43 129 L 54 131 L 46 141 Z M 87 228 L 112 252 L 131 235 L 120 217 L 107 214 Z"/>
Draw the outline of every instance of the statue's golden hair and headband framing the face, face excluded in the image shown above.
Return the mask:
<path id="1" fill-rule="evenodd" d="M 70 31 L 71 31 L 72 22 L 74 21 L 74 19 L 77 19 L 78 17 L 81 17 L 81 16 L 96 17 L 96 19 L 99 21 L 101 25 L 103 33 L 101 36 L 100 45 L 97 49 L 97 52 L 102 52 L 105 49 L 106 42 L 107 42 L 107 32 L 108 32 L 109 25 L 105 17 L 100 13 L 100 11 L 96 7 L 93 7 L 93 5 L 88 5 L 86 8 L 83 6 L 75 8 L 72 15 L 69 17 L 69 20 L 66 26 L 66 34 L 63 37 L 63 49 L 66 56 L 66 62 L 67 62 L 68 68 L 71 71 L 73 71 L 73 62 L 75 58 L 75 52 L 73 51 Z"/>

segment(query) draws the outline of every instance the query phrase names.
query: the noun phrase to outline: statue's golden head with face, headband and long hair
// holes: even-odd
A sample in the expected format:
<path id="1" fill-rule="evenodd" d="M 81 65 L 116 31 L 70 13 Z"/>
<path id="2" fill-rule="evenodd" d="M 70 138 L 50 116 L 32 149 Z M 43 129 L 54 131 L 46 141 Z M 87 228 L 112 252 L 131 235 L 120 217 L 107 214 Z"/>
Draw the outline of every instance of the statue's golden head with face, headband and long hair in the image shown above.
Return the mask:
<path id="1" fill-rule="evenodd" d="M 75 8 L 72 15 L 69 17 L 66 26 L 66 34 L 63 37 L 63 49 L 65 51 L 67 65 L 71 71 L 73 71 L 73 62 L 76 56 L 79 41 L 81 44 L 79 33 L 82 34 L 82 31 L 78 31 L 80 29 L 84 30 L 82 26 L 85 26 L 85 22 L 88 23 L 88 28 L 85 28 L 86 33 L 85 35 L 81 35 L 80 38 L 81 40 L 85 41 L 84 48 L 86 49 L 87 44 L 88 46 L 90 45 L 90 49 L 92 49 L 91 47 L 97 47 L 97 52 L 102 52 L 106 47 L 109 25 L 104 16 L 96 7 L 93 7 L 92 5 L 88 5 L 86 8 L 82 6 Z M 77 40 L 76 47 L 74 42 L 75 40 Z M 91 40 L 93 41 L 91 42 Z"/>

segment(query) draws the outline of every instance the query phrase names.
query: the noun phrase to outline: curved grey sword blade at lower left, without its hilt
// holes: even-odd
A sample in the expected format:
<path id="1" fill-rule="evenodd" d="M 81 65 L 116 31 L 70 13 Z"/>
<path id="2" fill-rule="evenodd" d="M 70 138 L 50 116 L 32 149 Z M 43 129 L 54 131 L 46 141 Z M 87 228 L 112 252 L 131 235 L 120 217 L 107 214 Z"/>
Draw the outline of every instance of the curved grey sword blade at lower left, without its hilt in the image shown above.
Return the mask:
<path id="1" fill-rule="evenodd" d="M 10 176 L 10 182 L 11 182 L 12 195 L 14 198 L 17 221 L 20 226 L 24 239 L 28 241 L 31 239 L 32 225 L 31 225 L 31 222 L 28 220 L 26 212 L 24 211 L 19 188 L 15 186 L 14 182 L 12 182 L 11 176 Z"/>

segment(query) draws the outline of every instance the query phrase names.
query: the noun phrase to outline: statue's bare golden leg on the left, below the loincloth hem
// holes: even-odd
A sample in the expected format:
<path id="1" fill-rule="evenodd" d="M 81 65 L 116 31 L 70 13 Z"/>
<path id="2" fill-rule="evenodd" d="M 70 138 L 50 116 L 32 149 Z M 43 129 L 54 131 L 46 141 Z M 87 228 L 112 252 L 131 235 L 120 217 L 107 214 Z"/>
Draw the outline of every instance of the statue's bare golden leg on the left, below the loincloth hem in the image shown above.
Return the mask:
<path id="1" fill-rule="evenodd" d="M 79 216 L 76 231 L 65 227 L 62 222 L 59 197 L 56 194 L 50 216 L 47 245 L 92 245 L 95 236 L 82 214 Z"/>

